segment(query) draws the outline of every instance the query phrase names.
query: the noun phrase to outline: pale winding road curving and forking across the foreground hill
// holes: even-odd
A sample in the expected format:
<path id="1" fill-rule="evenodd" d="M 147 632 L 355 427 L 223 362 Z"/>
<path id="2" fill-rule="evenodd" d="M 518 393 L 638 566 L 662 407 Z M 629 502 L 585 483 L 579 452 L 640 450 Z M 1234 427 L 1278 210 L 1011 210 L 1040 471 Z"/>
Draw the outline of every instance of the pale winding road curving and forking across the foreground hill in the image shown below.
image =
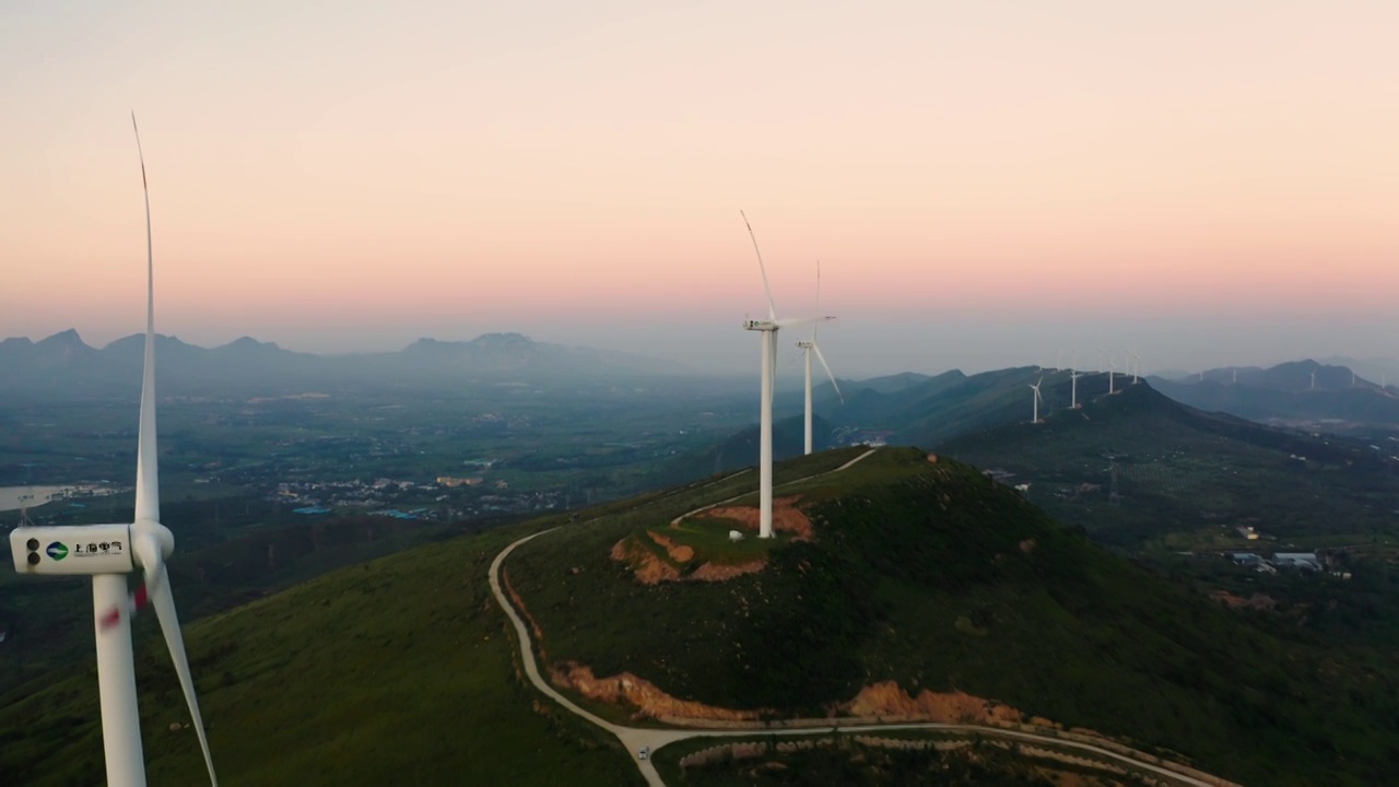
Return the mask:
<path id="1" fill-rule="evenodd" d="M 870 454 L 874 454 L 874 450 L 870 450 L 870 451 L 867 451 L 865 454 L 860 454 L 859 457 L 856 457 L 851 462 L 846 462 L 845 465 L 842 465 L 842 466 L 839 466 L 839 468 L 837 468 L 834 471 L 828 471 L 828 472 L 841 472 L 841 471 L 849 468 L 851 465 L 859 462 L 860 459 L 865 459 Z M 806 478 L 799 479 L 799 480 L 809 480 L 809 479 L 817 478 L 820 475 L 825 475 L 825 473 L 817 473 L 817 475 L 813 475 L 813 476 L 806 476 Z M 732 478 L 732 476 L 729 476 L 729 478 Z M 719 480 L 725 480 L 725 479 L 719 479 Z M 718 483 L 718 482 L 715 482 L 715 483 Z M 790 483 L 797 483 L 797 482 L 790 482 Z M 783 486 L 788 486 L 788 485 L 783 485 Z M 744 493 L 744 494 L 751 494 L 751 492 L 750 493 Z M 743 497 L 743 494 L 740 494 L 737 497 Z M 733 497 L 730 500 L 737 500 L 737 497 Z M 727 503 L 727 501 L 723 501 L 723 503 Z M 719 504 L 722 504 L 722 503 L 716 503 L 715 506 L 719 506 Z M 688 514 L 684 514 L 684 515 L 679 517 L 676 521 L 683 520 L 684 517 L 688 517 L 688 515 L 695 514 L 698 511 L 704 511 L 705 508 L 711 508 L 711 507 L 712 506 L 705 506 L 702 508 L 697 508 L 695 511 L 691 511 Z M 550 528 L 547 531 L 540 531 L 537 534 L 527 535 L 527 536 L 525 536 L 522 539 L 518 539 L 518 541 L 512 542 L 509 546 L 506 546 L 505 549 L 502 549 L 501 553 L 495 556 L 495 560 L 491 562 L 491 569 L 490 569 L 491 592 L 495 595 L 495 601 L 501 605 L 501 609 L 504 609 L 505 615 L 511 619 L 511 623 L 515 626 L 515 634 L 516 634 L 516 637 L 519 640 L 519 647 L 520 647 L 520 661 L 525 664 L 525 674 L 529 676 L 530 683 L 533 683 L 536 689 L 539 689 L 541 693 L 544 693 L 546 696 L 548 696 L 550 699 L 553 699 L 554 702 L 557 702 L 560 706 L 562 706 L 565 710 L 568 710 L 574 716 L 586 718 L 588 721 L 596 724 L 597 727 L 602 727 L 603 730 L 611 732 L 613 735 L 617 735 L 617 739 L 621 741 L 623 748 L 627 749 L 628 752 L 632 752 L 634 756 L 642 748 L 646 748 L 653 755 L 656 752 L 656 749 L 659 749 L 659 748 L 662 748 L 662 746 L 665 746 L 667 744 L 673 744 L 676 741 L 684 741 L 684 739 L 688 739 L 688 738 L 705 738 L 705 737 L 709 737 L 709 738 L 758 738 L 758 737 L 767 737 L 767 735 L 814 735 L 814 734 L 821 734 L 821 732 L 825 732 L 825 731 L 832 731 L 832 732 L 834 731 L 839 731 L 839 732 L 846 732 L 846 734 L 856 734 L 856 732 L 897 732 L 897 731 L 907 731 L 907 730 L 937 730 L 937 731 L 943 731 L 943 732 L 957 732 L 957 734 L 967 734 L 967 735 L 981 735 L 982 738 L 1002 738 L 1002 739 L 1013 739 L 1013 741 L 1027 741 L 1027 742 L 1044 744 L 1044 745 L 1055 746 L 1055 748 L 1059 748 L 1059 749 L 1077 749 L 1077 751 L 1081 751 L 1081 752 L 1086 752 L 1086 753 L 1091 753 L 1091 755 L 1094 755 L 1097 758 L 1107 758 L 1107 759 L 1111 759 L 1111 760 L 1118 760 L 1118 762 L 1125 763 L 1125 765 L 1128 765 L 1130 767 L 1135 767 L 1135 769 L 1149 770 L 1149 772 L 1156 773 L 1158 776 L 1165 776 L 1168 779 L 1172 779 L 1177 784 L 1188 784 L 1191 787 L 1217 787 L 1217 784 L 1220 784 L 1220 783 L 1216 783 L 1216 781 L 1203 781 L 1203 780 L 1186 776 L 1184 773 L 1178 773 L 1175 770 L 1170 770 L 1167 767 L 1161 767 L 1161 766 L 1153 765 L 1150 762 L 1144 762 L 1142 759 L 1136 759 L 1136 758 L 1130 758 L 1130 756 L 1126 756 L 1126 755 L 1121 755 L 1118 752 L 1114 752 L 1114 751 L 1109 751 L 1109 749 L 1104 749 L 1101 746 L 1094 746 L 1091 744 L 1081 744 L 1081 742 L 1077 742 L 1077 741 L 1066 741 L 1063 738 L 1055 738 L 1055 737 L 1051 737 L 1051 735 L 1037 735 L 1034 732 L 1020 732 L 1020 731 L 1014 731 L 1014 730 L 1002 730 L 999 727 L 981 727 L 981 725 L 977 725 L 977 724 L 944 724 L 944 723 L 936 723 L 936 721 L 914 723 L 914 724 L 859 724 L 859 723 L 851 723 L 852 720 L 846 720 L 846 723 L 842 724 L 841 720 L 813 720 L 813 725 L 811 727 L 782 727 L 782 728 L 753 728 L 753 730 L 706 730 L 706 728 L 656 730 L 656 728 L 645 728 L 645 727 L 623 727 L 620 724 L 613 724 L 613 723 L 607 721 L 606 718 L 602 718 L 600 716 L 597 716 L 595 713 L 590 713 L 590 711 L 579 707 L 575 702 L 569 700 L 562 693 L 560 693 L 558 689 L 555 689 L 553 685 L 550 685 L 548 681 L 546 681 L 540 675 L 539 661 L 534 657 L 534 647 L 533 647 L 533 643 L 530 641 L 529 629 L 526 627 L 525 620 L 520 618 L 520 615 L 515 609 L 515 606 L 509 602 L 509 599 L 505 595 L 504 588 L 501 587 L 501 564 L 505 563 L 505 559 L 509 557 L 511 552 L 515 552 L 515 548 L 520 546 L 522 543 L 526 543 L 526 542 L 533 541 L 536 538 L 540 538 L 543 535 L 548 535 L 548 534 L 554 532 L 555 529 L 558 529 L 558 528 Z M 635 759 L 634 762 L 637 763 L 637 767 L 641 769 L 641 774 L 642 774 L 642 777 L 645 777 L 646 784 L 649 784 L 651 787 L 665 787 L 666 783 L 662 781 L 660 773 L 656 770 L 656 766 L 652 763 L 652 760 L 651 760 L 649 756 L 646 759 Z"/>

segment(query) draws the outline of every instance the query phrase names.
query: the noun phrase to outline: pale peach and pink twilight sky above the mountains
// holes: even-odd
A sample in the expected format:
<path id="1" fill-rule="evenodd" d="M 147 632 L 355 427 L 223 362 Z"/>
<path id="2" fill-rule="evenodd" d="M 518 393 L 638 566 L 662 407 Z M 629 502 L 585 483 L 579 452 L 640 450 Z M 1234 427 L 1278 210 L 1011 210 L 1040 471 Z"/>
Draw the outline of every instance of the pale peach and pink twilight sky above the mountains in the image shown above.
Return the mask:
<path id="1" fill-rule="evenodd" d="M 0 336 L 143 328 L 134 111 L 157 329 L 196 344 L 519 330 L 755 372 L 741 209 L 842 377 L 1399 357 L 1395 29 L 1392 0 L 8 0 Z"/>

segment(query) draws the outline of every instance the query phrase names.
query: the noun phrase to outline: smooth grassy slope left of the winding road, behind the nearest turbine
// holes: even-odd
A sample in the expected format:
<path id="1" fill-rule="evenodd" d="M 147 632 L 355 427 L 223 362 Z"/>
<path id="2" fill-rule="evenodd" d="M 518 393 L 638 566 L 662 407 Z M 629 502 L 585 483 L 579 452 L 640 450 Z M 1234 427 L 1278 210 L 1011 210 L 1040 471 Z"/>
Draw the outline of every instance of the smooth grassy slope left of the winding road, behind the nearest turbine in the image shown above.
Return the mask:
<path id="1" fill-rule="evenodd" d="M 504 528 L 344 569 L 185 627 L 220 783 L 641 784 L 602 731 L 539 703 L 485 569 Z M 176 597 L 186 590 L 175 583 Z M 139 620 L 154 786 L 207 780 L 175 674 Z M 6 784 L 102 781 L 91 664 L 0 697 Z"/>

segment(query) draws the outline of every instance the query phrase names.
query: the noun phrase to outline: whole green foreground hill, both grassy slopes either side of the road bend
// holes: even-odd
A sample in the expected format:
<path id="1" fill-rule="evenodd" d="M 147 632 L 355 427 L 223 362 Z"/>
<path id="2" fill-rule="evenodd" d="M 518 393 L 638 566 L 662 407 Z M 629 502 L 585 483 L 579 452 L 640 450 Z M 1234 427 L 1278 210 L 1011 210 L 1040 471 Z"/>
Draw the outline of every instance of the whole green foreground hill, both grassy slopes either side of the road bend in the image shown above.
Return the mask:
<path id="1" fill-rule="evenodd" d="M 679 699 L 768 717 L 824 714 L 884 681 L 909 695 L 960 690 L 1248 784 L 1375 784 L 1393 772 L 1392 662 L 1254 627 L 968 465 L 898 448 L 828 472 L 862 452 L 776 468 L 783 521 L 807 517 L 809 541 L 799 527 L 727 541 L 754 499 L 744 472 L 572 524 L 425 545 L 187 626 L 221 783 L 638 783 L 630 752 L 518 676 L 485 570 L 547 527 L 560 529 L 505 566 L 543 630 L 546 665 L 632 672 Z M 715 515 L 681 518 L 709 504 Z M 652 532 L 691 581 L 646 585 L 639 563 L 613 557 L 618 543 L 659 545 Z M 765 564 L 694 581 L 753 562 Z M 197 784 L 192 734 L 169 730 L 185 716 L 151 623 L 139 620 L 137 660 L 151 784 Z M 98 781 L 91 668 L 0 697 L 0 773 Z"/>

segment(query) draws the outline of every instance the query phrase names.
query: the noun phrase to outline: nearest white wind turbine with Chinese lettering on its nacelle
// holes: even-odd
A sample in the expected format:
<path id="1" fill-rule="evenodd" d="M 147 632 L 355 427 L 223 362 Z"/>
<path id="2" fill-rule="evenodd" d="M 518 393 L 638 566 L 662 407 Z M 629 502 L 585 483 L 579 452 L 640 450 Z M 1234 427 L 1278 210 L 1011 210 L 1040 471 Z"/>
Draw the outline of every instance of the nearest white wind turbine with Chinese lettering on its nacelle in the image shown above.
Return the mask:
<path id="1" fill-rule="evenodd" d="M 145 784 L 141 755 L 141 717 L 136 706 L 136 668 L 132 651 L 132 616 L 147 605 L 155 608 L 161 633 L 171 651 L 185 702 L 189 704 L 208 780 L 218 784 L 208 753 L 204 721 L 194 697 L 194 681 L 185 654 L 175 597 L 171 595 L 165 559 L 175 536 L 161 524 L 159 479 L 155 447 L 155 263 L 151 251 L 151 196 L 145 185 L 145 155 L 136 129 L 145 195 L 145 371 L 141 378 L 140 429 L 136 444 L 136 515 L 132 524 L 20 527 L 10 534 L 15 570 L 21 574 L 92 577 L 92 609 L 97 629 L 97 682 L 102 707 L 102 748 L 109 787 Z M 140 569 L 144 584 L 127 597 L 126 574 Z"/>

